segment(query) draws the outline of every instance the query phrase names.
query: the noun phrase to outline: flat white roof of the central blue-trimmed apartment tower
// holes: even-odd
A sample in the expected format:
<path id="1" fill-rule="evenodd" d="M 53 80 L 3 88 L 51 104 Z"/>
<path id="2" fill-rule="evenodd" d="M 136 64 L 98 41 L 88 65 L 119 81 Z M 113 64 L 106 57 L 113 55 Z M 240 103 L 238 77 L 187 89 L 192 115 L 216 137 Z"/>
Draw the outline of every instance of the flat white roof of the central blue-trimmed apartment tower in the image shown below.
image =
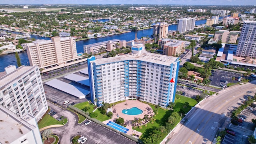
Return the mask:
<path id="1" fill-rule="evenodd" d="M 173 57 L 173 56 L 166 56 L 162 54 L 153 54 L 151 52 L 147 52 L 145 50 L 144 44 L 143 45 L 141 44 L 140 46 L 142 46 L 141 54 L 126 54 L 124 56 L 101 58 L 92 62 L 95 62 L 96 65 L 100 65 L 100 64 L 108 64 L 108 63 L 120 62 L 125 60 L 141 60 L 144 62 L 151 62 L 154 64 L 170 66 L 170 64 L 174 63 L 178 59 L 177 57 Z M 138 47 L 138 46 L 133 46 L 133 47 Z"/>

